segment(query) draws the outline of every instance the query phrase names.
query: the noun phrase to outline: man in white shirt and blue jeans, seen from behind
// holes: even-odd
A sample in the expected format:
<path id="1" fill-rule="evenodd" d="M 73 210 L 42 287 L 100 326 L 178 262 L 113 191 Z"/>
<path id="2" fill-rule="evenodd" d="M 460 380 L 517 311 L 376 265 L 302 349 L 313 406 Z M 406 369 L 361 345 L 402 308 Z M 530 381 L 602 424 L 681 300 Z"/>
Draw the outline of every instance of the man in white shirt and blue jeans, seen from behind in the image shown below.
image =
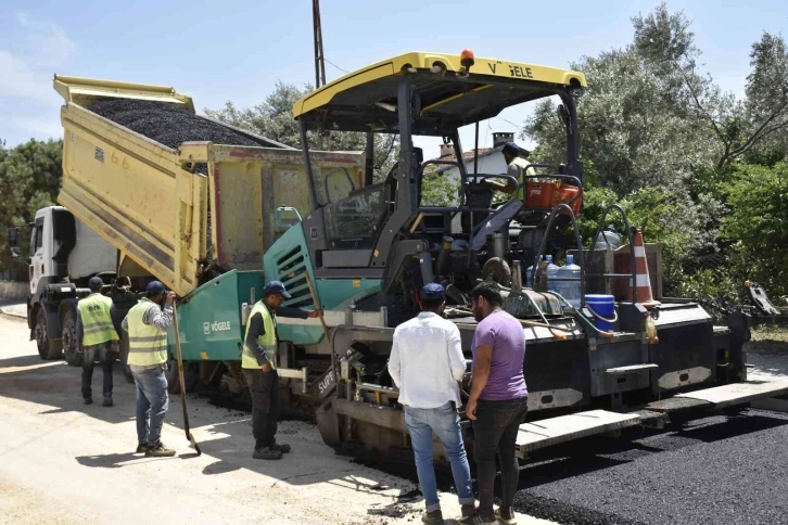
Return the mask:
<path id="1" fill-rule="evenodd" d="M 424 495 L 424 523 L 442 523 L 435 471 L 432 468 L 434 432 L 452 463 L 462 515 L 473 514 L 471 471 L 468 465 L 459 413 L 459 382 L 466 372 L 457 325 L 444 319 L 446 293 L 440 284 L 427 284 L 419 293 L 421 313 L 394 331 L 389 373 L 399 388 L 405 423 L 416 456 L 416 472 Z"/>

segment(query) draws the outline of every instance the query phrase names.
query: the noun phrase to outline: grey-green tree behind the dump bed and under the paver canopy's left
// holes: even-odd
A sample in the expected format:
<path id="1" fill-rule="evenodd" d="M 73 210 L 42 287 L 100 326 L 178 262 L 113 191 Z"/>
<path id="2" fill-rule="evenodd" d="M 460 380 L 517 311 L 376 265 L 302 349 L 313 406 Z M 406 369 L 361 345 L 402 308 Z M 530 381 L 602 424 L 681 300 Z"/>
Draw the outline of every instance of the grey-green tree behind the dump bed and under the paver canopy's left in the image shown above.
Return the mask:
<path id="1" fill-rule="evenodd" d="M 301 146 L 301 132 L 298 124 L 293 118 L 293 105 L 306 93 L 312 91 L 309 85 L 304 89 L 278 81 L 271 94 L 265 101 L 252 107 L 239 110 L 228 101 L 221 110 L 205 108 L 205 114 L 212 118 L 232 126 L 247 129 L 277 142 L 292 148 Z M 317 133 L 308 133 L 307 140 L 310 149 L 319 145 Z M 329 131 L 328 138 L 323 136 L 323 148 L 330 144 L 333 151 L 364 151 L 367 139 L 359 132 Z M 377 135 L 374 141 L 374 174 L 376 179 L 382 180 L 395 162 L 396 136 Z"/>

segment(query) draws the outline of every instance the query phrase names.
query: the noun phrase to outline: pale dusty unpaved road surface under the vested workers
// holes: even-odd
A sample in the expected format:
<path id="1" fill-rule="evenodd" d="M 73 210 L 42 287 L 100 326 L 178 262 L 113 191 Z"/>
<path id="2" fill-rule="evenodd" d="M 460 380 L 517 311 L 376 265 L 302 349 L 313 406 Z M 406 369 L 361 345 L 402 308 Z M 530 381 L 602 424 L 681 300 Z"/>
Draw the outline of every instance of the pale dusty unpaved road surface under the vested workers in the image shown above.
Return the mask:
<path id="1" fill-rule="evenodd" d="M 119 369 L 115 407 L 84 406 L 79 369 L 41 361 L 27 335 L 23 320 L 0 316 L 1 524 L 420 522 L 411 482 L 335 456 L 308 423 L 281 424 L 278 437 L 293 447 L 284 459 L 253 460 L 250 415 L 190 396 L 196 457 L 171 396 L 163 440 L 178 456 L 136 454 L 134 385 Z M 101 376 L 97 368 L 94 396 Z M 443 494 L 442 505 L 459 516 L 455 496 Z"/>

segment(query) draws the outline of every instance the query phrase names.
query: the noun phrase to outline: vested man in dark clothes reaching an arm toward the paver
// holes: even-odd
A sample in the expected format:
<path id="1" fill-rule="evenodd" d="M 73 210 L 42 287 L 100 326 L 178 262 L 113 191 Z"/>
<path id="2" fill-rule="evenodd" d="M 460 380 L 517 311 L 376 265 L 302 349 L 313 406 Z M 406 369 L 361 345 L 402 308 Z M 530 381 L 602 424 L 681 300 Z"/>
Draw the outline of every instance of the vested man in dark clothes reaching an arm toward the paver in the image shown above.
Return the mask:
<path id="1" fill-rule="evenodd" d="M 281 409 L 277 374 L 277 316 L 300 319 L 316 318 L 320 310 L 306 311 L 282 306 L 291 298 L 284 284 L 271 281 L 263 289 L 263 299 L 252 308 L 246 321 L 246 336 L 241 353 L 241 368 L 252 396 L 252 433 L 254 459 L 278 460 L 290 452 L 290 445 L 276 440 L 277 420 Z"/>

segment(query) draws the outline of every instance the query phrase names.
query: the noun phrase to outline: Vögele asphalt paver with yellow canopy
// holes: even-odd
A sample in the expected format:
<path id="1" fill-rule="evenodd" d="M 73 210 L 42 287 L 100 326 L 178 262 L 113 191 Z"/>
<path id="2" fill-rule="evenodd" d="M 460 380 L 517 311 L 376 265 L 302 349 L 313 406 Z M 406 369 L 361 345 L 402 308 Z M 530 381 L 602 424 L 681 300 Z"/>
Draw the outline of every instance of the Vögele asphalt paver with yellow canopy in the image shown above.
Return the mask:
<path id="1" fill-rule="evenodd" d="M 637 225 L 630 225 L 622 207 L 605 209 L 594 239 L 580 236 L 583 164 L 575 99 L 585 87 L 575 71 L 476 59 L 470 51 L 411 52 L 353 72 L 294 105 L 302 137 L 331 129 L 399 140 L 397 165 L 385 180 L 321 204 L 264 255 L 265 280 L 293 290 L 285 304 L 312 303 L 308 285 L 315 282 L 326 312 L 328 334 L 316 320 L 278 323 L 280 362 L 308 368 L 309 376 L 321 371 L 316 384 L 291 384 L 291 390 L 317 404 L 326 443 L 355 454 L 412 456 L 386 362 L 395 326 L 419 311 L 417 292 L 431 282 L 446 290 L 446 315 L 460 330 L 469 369 L 476 328 L 471 291 L 480 281 L 497 282 L 504 308 L 523 323 L 530 392 L 529 422 L 518 434 L 523 458 L 583 436 L 661 426 L 679 413 L 732 409 L 788 393 L 785 381 L 747 381 L 749 330 L 741 311 L 727 325 L 715 325 L 696 302 L 649 297 L 656 289 L 638 270 L 648 249 L 636 243 Z M 469 172 L 460 128 L 549 97 L 560 100 L 557 119 L 567 137 L 560 164 L 535 164 L 537 175 L 528 180 Z M 442 139 L 457 161 L 424 161 L 414 145 L 417 136 Z M 309 159 L 305 146 L 307 170 Z M 424 174 L 435 165 L 460 174 L 457 205 L 422 202 Z M 501 200 L 498 190 L 510 187 L 516 191 Z M 309 191 L 316 195 L 317 188 Z M 613 214 L 624 225 L 626 249 L 590 249 Z M 514 222 L 516 235 L 509 228 Z M 580 285 L 579 305 L 544 287 L 522 286 L 524 266 L 565 253 L 581 267 L 580 277 L 563 279 Z M 659 273 L 659 257 L 656 264 Z M 600 316 L 585 296 L 611 290 L 624 295 L 615 297 L 611 313 Z M 600 317 L 612 328 L 601 329 Z M 463 417 L 466 430 L 468 423 Z M 472 441 L 472 433 L 466 439 Z M 435 454 L 445 460 L 440 447 Z"/>

